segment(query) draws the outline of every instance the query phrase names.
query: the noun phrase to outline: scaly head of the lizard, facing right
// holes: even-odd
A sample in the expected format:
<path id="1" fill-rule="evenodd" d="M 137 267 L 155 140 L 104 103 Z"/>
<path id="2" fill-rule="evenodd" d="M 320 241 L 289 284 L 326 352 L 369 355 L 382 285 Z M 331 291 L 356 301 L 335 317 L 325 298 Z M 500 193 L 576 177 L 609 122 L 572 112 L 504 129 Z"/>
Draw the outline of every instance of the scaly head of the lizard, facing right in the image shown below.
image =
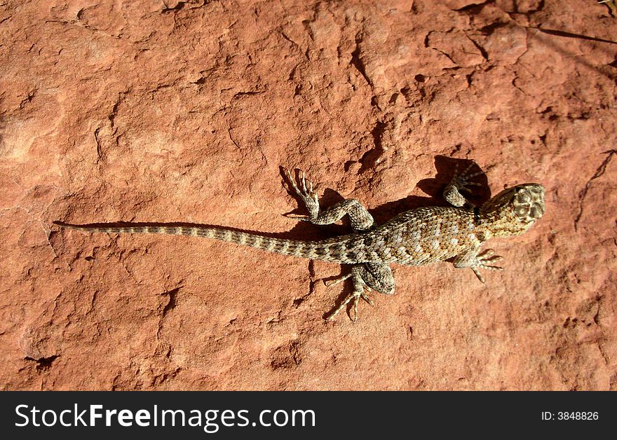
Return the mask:
<path id="1" fill-rule="evenodd" d="M 544 187 L 520 184 L 495 195 L 482 206 L 481 212 L 489 218 L 492 235 L 507 237 L 531 228 L 544 209 Z"/>

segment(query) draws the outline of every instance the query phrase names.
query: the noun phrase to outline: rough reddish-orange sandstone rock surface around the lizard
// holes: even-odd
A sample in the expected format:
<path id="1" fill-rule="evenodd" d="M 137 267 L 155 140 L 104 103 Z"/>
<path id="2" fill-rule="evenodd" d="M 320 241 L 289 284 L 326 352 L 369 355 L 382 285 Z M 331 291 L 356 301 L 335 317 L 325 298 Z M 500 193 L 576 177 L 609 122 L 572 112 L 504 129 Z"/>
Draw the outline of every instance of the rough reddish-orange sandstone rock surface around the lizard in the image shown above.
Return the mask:
<path id="1" fill-rule="evenodd" d="M 616 35 L 595 0 L 3 2 L 1 388 L 615 390 Z M 486 284 L 395 266 L 356 324 L 330 263 L 51 227 L 323 238 L 279 165 L 384 221 L 463 159 L 545 216 Z"/>

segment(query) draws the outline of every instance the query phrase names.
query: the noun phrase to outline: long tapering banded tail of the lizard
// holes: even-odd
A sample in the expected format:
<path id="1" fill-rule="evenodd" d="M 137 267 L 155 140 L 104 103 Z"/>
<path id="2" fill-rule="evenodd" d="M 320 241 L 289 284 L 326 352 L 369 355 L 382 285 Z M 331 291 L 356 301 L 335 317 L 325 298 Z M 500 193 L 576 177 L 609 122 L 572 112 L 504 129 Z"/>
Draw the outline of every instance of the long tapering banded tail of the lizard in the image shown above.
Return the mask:
<path id="1" fill-rule="evenodd" d="M 242 231 L 224 228 L 208 228 L 205 226 L 104 226 L 104 225 L 73 225 L 54 221 L 53 224 L 65 229 L 98 233 L 128 233 L 128 234 L 169 234 L 192 235 L 194 237 L 212 238 L 224 242 L 255 247 L 277 254 L 297 256 L 300 258 L 331 261 L 333 263 L 349 263 L 345 249 L 345 238 L 330 238 L 319 241 L 287 240 L 271 238 Z M 341 252 L 343 251 L 343 252 Z"/>

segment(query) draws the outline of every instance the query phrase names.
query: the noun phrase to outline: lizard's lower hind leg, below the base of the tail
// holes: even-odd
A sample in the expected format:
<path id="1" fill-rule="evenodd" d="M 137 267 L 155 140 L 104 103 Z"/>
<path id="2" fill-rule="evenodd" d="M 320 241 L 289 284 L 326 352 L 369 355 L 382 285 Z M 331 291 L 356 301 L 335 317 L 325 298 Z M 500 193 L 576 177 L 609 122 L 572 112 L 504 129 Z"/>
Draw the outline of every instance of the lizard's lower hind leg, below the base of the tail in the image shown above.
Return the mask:
<path id="1" fill-rule="evenodd" d="M 332 320 L 334 316 L 348 305 L 348 303 L 353 301 L 353 316 L 350 312 L 349 317 L 353 322 L 356 322 L 358 320 L 358 301 L 360 301 L 360 298 L 369 303 L 369 305 L 373 305 L 371 298 L 365 294 L 365 289 L 367 289 L 367 291 L 372 291 L 374 289 L 386 295 L 394 293 L 394 277 L 392 276 L 392 270 L 386 264 L 381 263 L 357 264 L 351 268 L 351 273 L 338 277 L 326 283 L 326 285 L 332 286 L 350 277 L 353 282 L 353 291 L 346 296 L 344 301 L 340 303 L 337 308 L 326 315 L 325 319 L 327 321 Z"/>

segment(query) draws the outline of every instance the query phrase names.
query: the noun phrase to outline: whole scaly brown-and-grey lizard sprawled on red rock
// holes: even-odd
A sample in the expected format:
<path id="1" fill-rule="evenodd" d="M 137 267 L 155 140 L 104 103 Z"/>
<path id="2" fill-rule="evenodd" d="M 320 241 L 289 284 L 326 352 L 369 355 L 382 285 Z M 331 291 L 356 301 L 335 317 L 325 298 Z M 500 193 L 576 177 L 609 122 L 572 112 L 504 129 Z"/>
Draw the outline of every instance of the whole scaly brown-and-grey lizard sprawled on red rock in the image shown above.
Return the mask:
<path id="1" fill-rule="evenodd" d="M 67 224 L 54 221 L 61 228 L 76 229 L 92 233 L 159 233 L 172 235 L 194 235 L 225 242 L 236 243 L 278 254 L 318 259 L 351 265 L 346 275 L 325 282 L 327 286 L 351 278 L 353 291 L 344 301 L 325 315 L 332 319 L 350 302 L 353 303 L 353 317 L 358 319 L 358 301 L 364 299 L 373 305 L 366 291 L 381 294 L 394 293 L 394 277 L 391 263 L 405 266 L 423 266 L 440 261 L 452 261 L 456 268 L 471 268 L 480 282 L 484 277 L 479 269 L 503 270 L 496 266 L 503 257 L 495 255 L 493 249 L 480 251 L 480 245 L 491 237 L 521 235 L 545 211 L 545 190 L 541 184 L 519 184 L 506 188 L 480 207 L 471 204 L 463 192 L 470 193 L 470 186 L 480 186 L 470 181 L 482 172 L 470 173 L 471 163 L 454 176 L 443 191 L 448 207 L 419 207 L 402 212 L 384 224 L 376 225 L 373 216 L 356 199 L 346 199 L 322 209 L 318 195 L 313 191 L 313 182 L 306 179 L 304 172 L 297 178 L 283 168 L 290 189 L 301 199 L 308 215 L 288 214 L 300 221 L 316 225 L 334 224 L 348 216 L 351 233 L 325 240 L 287 240 L 271 238 L 255 233 L 236 231 L 219 226 L 102 226 L 94 224 Z"/>

